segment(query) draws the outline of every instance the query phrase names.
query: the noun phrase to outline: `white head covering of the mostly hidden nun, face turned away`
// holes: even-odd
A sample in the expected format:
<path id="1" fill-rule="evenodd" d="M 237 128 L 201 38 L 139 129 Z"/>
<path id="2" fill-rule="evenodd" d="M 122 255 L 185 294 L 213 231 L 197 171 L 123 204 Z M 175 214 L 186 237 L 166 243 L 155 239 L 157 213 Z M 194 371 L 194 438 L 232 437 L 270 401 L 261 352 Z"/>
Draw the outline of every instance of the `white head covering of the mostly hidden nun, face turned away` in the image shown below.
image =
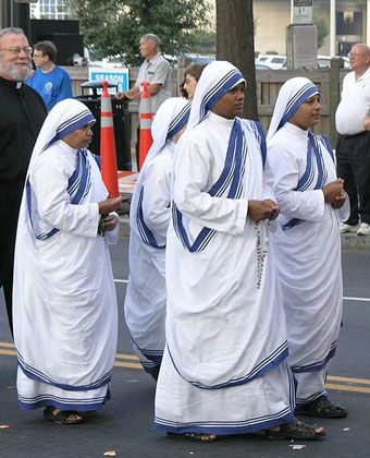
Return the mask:
<path id="1" fill-rule="evenodd" d="M 190 103 L 183 97 L 171 97 L 159 107 L 151 124 L 153 143 L 146 161 L 155 157 L 186 124 L 189 118 Z"/>

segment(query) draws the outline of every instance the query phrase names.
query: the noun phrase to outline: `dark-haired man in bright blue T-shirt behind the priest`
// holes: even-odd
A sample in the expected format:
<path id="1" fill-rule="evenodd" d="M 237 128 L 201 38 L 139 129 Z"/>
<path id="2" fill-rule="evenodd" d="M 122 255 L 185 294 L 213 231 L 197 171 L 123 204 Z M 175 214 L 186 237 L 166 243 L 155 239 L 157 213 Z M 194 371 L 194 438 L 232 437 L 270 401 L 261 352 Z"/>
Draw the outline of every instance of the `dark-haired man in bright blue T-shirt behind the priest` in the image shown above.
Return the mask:
<path id="1" fill-rule="evenodd" d="M 57 48 L 52 41 L 39 41 L 34 46 L 35 73 L 26 83 L 36 89 L 48 111 L 60 100 L 72 97 L 72 82 L 65 70 L 55 65 Z"/>

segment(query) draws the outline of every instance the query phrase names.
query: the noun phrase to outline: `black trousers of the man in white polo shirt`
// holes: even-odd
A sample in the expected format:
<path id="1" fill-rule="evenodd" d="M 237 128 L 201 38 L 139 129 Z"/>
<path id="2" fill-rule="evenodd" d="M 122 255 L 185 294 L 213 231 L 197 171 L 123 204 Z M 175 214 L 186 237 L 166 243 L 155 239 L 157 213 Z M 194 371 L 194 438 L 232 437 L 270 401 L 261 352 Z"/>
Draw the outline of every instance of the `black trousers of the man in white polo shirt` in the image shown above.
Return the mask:
<path id="1" fill-rule="evenodd" d="M 370 132 L 338 136 L 336 144 L 336 172 L 344 180 L 349 196 L 348 225 L 370 225 Z"/>

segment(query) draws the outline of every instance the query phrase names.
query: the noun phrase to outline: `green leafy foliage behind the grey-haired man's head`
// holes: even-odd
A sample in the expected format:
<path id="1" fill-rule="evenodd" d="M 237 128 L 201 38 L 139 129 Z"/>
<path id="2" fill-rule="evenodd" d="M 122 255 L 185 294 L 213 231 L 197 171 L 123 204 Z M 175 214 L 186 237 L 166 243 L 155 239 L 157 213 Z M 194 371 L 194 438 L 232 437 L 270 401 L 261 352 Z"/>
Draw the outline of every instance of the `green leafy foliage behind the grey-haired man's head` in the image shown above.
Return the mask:
<path id="1" fill-rule="evenodd" d="M 194 46 L 193 31 L 207 23 L 207 0 L 69 0 L 85 43 L 98 58 L 122 56 L 141 62 L 140 36 L 157 34 L 162 51 L 176 56 Z"/>

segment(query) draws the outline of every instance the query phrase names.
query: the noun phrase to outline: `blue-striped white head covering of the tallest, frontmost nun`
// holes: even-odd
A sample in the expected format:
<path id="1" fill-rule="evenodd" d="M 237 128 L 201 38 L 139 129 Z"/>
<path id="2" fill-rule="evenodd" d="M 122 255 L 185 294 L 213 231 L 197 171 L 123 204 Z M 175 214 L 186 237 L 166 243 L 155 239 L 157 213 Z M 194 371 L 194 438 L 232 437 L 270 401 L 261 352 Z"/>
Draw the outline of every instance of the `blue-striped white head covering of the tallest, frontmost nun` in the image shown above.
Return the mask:
<path id="1" fill-rule="evenodd" d="M 245 79 L 230 62 L 215 60 L 206 65 L 195 89 L 187 129 L 201 122 L 209 110 L 239 83 L 245 83 Z"/>

